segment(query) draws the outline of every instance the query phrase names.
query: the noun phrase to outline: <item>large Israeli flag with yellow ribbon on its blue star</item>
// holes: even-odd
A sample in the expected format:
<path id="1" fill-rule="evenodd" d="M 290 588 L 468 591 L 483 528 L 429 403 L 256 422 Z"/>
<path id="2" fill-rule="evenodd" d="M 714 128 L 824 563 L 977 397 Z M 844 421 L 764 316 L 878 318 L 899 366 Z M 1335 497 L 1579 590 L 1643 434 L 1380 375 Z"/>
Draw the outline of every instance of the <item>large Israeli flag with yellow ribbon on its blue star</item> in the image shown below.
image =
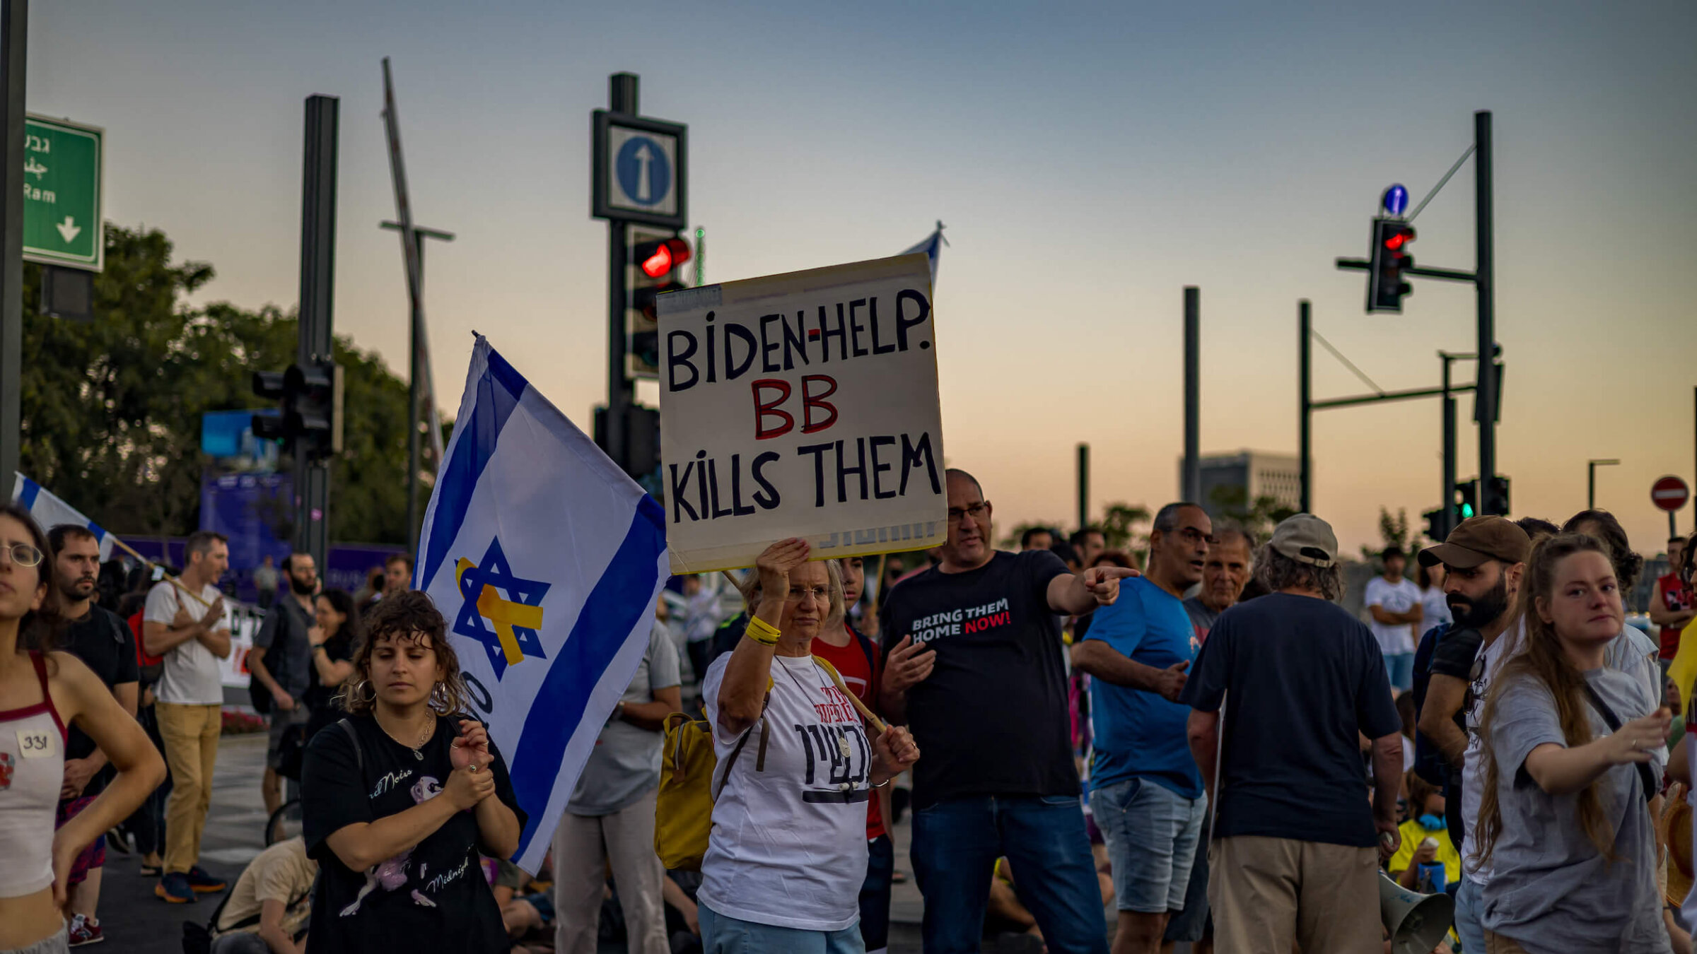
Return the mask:
<path id="1" fill-rule="evenodd" d="M 448 620 L 541 866 L 596 737 L 648 648 L 665 513 L 479 334 L 412 584 Z"/>

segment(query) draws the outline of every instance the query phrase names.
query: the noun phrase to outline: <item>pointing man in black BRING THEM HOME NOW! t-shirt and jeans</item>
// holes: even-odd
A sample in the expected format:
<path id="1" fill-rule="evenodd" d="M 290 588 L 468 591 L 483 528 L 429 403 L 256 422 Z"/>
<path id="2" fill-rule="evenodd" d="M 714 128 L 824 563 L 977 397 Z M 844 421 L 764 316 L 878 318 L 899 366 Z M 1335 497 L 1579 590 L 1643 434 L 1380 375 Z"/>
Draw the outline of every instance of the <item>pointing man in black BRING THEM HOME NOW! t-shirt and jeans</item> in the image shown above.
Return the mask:
<path id="1" fill-rule="evenodd" d="M 1047 550 L 996 552 L 977 480 L 964 470 L 947 480 L 940 562 L 896 584 L 879 618 L 882 711 L 927 750 L 913 769 L 925 951 L 979 949 L 991 873 L 1006 856 L 1050 951 L 1106 954 L 1056 614 L 1106 606 L 1137 574 L 1073 574 Z"/>

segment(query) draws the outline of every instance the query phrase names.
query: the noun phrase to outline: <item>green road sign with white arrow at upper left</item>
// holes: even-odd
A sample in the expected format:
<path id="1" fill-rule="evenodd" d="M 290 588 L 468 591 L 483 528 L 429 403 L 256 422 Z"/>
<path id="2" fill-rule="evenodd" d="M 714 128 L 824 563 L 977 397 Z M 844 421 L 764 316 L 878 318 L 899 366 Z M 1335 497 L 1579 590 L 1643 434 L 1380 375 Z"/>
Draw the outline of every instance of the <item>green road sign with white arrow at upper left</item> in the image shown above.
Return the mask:
<path id="1" fill-rule="evenodd" d="M 42 115 L 24 119 L 24 258 L 100 270 L 104 153 L 104 129 Z"/>

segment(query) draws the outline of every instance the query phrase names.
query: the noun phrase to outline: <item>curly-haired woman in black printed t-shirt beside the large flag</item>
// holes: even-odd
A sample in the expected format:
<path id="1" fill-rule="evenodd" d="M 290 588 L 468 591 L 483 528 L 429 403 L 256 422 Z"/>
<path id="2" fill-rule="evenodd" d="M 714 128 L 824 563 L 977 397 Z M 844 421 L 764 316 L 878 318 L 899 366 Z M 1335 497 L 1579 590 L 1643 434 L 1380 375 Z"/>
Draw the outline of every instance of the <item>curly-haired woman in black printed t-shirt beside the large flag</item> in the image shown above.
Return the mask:
<path id="1" fill-rule="evenodd" d="M 300 777 L 321 866 L 307 947 L 507 951 L 477 856 L 518 850 L 526 815 L 484 725 L 463 715 L 460 660 L 429 596 L 377 604 L 339 701 L 348 718 L 312 738 Z"/>

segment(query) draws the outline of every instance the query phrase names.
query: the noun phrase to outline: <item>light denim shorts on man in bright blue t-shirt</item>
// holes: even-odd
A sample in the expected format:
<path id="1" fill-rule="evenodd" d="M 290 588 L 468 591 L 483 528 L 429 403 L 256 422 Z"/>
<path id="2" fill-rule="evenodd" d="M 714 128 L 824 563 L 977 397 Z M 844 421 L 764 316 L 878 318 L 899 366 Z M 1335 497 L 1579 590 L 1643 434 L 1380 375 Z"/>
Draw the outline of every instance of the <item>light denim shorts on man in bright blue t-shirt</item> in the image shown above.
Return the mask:
<path id="1" fill-rule="evenodd" d="M 1183 912 L 1208 796 L 1185 798 L 1159 783 L 1130 779 L 1091 789 L 1089 810 L 1108 842 L 1115 906 Z"/>

